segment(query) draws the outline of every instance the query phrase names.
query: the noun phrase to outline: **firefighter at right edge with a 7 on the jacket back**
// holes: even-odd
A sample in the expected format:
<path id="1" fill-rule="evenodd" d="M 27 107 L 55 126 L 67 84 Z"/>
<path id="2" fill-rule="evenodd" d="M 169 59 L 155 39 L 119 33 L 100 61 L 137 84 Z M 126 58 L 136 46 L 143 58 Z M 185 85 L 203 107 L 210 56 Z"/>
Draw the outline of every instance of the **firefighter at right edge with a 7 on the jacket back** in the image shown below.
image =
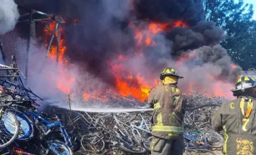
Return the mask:
<path id="1" fill-rule="evenodd" d="M 217 132 L 224 130 L 222 153 L 256 154 L 256 81 L 242 76 L 231 91 L 236 99 L 222 104 L 211 120 Z"/>

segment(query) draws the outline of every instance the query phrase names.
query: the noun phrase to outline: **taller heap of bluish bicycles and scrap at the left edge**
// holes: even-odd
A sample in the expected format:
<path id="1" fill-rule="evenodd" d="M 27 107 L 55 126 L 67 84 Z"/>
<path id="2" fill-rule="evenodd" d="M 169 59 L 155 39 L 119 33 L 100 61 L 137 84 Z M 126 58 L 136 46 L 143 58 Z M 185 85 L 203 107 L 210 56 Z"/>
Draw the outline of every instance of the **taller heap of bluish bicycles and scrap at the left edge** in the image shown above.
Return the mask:
<path id="1" fill-rule="evenodd" d="M 10 66 L 0 64 L 5 72 L 0 76 L 0 153 L 71 155 L 79 150 L 80 141 L 63 127 L 58 115 L 38 112 L 35 101 L 42 99 L 24 87 L 23 74 L 15 57 L 11 59 Z"/>

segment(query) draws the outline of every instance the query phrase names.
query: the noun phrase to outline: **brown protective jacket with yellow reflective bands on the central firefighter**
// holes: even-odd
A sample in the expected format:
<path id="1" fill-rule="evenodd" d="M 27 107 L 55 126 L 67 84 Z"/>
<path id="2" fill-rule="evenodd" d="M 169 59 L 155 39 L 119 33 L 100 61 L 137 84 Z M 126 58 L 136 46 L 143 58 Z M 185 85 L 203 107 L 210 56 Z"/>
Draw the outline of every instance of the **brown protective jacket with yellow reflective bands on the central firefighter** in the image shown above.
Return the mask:
<path id="1" fill-rule="evenodd" d="M 166 84 L 151 89 L 148 103 L 154 107 L 151 134 L 168 140 L 180 138 L 186 99 L 177 86 Z"/>

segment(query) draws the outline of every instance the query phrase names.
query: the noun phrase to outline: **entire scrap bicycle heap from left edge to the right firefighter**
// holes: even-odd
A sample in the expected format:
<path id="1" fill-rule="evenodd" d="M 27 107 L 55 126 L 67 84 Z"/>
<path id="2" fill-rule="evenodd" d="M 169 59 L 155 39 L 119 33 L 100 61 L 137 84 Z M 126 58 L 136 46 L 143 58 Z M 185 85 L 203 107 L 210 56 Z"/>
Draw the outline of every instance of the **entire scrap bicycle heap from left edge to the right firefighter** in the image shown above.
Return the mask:
<path id="1" fill-rule="evenodd" d="M 151 140 L 150 109 L 130 112 L 85 112 L 50 107 L 38 112 L 42 100 L 24 87 L 15 61 L 0 64 L 0 149 L 2 154 L 148 154 Z M 21 73 L 22 74 L 22 73 Z M 16 81 L 12 83 L 11 81 Z M 221 133 L 211 128 L 211 116 L 226 100 L 187 95 L 185 154 L 214 154 L 221 148 Z M 116 97 L 115 97 L 116 98 Z M 127 99 L 122 99 L 126 104 Z M 134 101 L 130 100 L 133 105 Z M 102 107 L 101 107 L 102 108 Z M 141 107 L 142 108 L 142 107 Z M 144 107 L 145 108 L 145 107 Z M 46 108 L 47 111 L 47 108 Z"/>

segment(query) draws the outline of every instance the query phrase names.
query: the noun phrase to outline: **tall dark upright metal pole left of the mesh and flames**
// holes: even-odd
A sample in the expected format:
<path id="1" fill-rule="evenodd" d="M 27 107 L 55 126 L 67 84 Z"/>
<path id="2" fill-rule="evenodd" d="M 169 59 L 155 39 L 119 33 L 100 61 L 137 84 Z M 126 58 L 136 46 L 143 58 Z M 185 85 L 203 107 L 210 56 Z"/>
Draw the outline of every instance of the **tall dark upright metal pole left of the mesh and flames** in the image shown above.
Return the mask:
<path id="1" fill-rule="evenodd" d="M 31 38 L 31 29 L 32 29 L 32 21 L 33 21 L 33 10 L 30 11 L 30 17 L 29 17 L 29 34 L 27 36 L 27 58 L 26 58 L 26 71 L 25 71 L 25 84 L 27 84 L 27 75 L 29 72 L 29 50 L 30 50 L 30 38 Z"/>

